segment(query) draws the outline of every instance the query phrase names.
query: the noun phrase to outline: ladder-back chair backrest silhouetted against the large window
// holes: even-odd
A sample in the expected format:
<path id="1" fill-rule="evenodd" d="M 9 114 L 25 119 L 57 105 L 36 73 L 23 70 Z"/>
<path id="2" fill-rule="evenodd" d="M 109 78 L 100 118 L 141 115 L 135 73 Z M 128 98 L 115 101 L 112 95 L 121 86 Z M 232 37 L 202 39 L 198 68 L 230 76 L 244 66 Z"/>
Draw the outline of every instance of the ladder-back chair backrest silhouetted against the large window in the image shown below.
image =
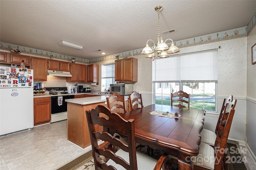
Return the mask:
<path id="1" fill-rule="evenodd" d="M 174 99 L 177 97 L 178 97 L 178 99 Z M 174 102 L 179 102 L 179 104 L 175 105 Z M 180 102 L 182 102 L 182 104 L 180 104 Z M 171 106 L 186 107 L 186 106 L 184 106 L 183 103 L 188 104 L 188 108 L 189 108 L 190 94 L 187 94 L 186 92 L 183 92 L 182 90 L 171 94 Z"/>

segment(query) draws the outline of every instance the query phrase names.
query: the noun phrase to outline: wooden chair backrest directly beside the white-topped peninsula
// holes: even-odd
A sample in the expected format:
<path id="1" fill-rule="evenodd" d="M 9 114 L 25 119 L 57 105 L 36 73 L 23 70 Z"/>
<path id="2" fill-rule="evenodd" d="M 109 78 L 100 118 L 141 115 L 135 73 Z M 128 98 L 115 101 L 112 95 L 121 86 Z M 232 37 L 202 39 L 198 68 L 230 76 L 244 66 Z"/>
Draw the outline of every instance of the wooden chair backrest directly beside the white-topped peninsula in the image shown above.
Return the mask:
<path id="1" fill-rule="evenodd" d="M 106 98 L 106 100 L 111 112 L 126 113 L 124 96 L 114 92 L 109 98 Z"/>

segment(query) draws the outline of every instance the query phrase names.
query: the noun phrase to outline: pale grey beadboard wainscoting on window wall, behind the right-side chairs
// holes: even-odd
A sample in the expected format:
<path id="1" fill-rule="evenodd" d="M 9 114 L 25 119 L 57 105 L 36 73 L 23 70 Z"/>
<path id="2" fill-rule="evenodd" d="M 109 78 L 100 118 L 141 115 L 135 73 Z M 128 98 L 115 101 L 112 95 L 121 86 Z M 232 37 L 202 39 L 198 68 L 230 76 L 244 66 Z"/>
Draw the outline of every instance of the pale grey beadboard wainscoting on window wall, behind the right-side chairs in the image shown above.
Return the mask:
<path id="1" fill-rule="evenodd" d="M 234 98 L 236 99 L 236 98 Z M 221 109 L 224 98 L 218 98 L 218 112 Z M 237 99 L 235 114 L 230 128 L 229 138 L 246 141 L 246 99 Z M 206 114 L 204 129 L 215 131 L 219 115 Z"/>

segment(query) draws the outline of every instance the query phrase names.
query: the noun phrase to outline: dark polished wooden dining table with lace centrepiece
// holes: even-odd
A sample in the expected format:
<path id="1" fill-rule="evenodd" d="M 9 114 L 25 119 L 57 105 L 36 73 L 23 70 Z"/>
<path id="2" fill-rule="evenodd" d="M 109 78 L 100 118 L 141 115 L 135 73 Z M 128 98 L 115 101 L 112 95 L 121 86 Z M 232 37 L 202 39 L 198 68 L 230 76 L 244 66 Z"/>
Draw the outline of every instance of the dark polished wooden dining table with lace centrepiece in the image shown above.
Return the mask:
<path id="1" fill-rule="evenodd" d="M 178 112 L 181 116 L 162 117 L 150 114 L 152 111 Z M 192 169 L 190 156 L 199 153 L 204 110 L 152 104 L 120 115 L 126 120 L 134 119 L 137 143 L 162 149 L 178 158 L 179 169 Z"/>

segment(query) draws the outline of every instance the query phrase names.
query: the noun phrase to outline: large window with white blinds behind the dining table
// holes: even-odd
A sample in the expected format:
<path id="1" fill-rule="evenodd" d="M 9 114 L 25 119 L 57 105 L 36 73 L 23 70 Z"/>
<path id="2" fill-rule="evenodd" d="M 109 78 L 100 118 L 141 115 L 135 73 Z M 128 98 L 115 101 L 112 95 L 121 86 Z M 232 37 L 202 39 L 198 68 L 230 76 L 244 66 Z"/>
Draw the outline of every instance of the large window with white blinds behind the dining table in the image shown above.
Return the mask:
<path id="1" fill-rule="evenodd" d="M 217 64 L 217 50 L 154 60 L 155 104 L 170 105 L 171 93 L 183 90 L 190 107 L 216 111 Z"/>

